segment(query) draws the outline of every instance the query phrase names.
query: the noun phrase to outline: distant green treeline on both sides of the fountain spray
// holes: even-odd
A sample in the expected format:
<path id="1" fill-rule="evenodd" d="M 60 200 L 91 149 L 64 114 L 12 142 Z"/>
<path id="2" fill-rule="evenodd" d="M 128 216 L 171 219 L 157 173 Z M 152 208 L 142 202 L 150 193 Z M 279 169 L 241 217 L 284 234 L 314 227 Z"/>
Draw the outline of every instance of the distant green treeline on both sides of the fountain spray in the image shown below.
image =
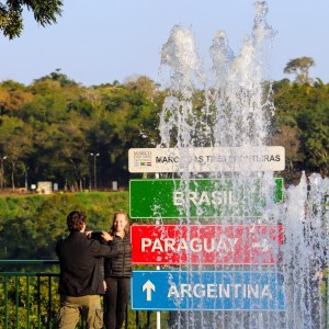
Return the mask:
<path id="1" fill-rule="evenodd" d="M 266 89 L 266 88 L 265 88 Z M 275 114 L 269 145 L 286 150 L 286 182 L 300 171 L 328 175 L 329 84 L 274 81 Z M 127 154 L 159 144 L 159 113 L 168 94 L 147 77 L 83 87 L 58 70 L 30 86 L 0 83 L 1 189 L 31 189 L 37 181 L 59 190 L 127 186 Z M 195 92 L 202 111 L 204 93 Z"/>

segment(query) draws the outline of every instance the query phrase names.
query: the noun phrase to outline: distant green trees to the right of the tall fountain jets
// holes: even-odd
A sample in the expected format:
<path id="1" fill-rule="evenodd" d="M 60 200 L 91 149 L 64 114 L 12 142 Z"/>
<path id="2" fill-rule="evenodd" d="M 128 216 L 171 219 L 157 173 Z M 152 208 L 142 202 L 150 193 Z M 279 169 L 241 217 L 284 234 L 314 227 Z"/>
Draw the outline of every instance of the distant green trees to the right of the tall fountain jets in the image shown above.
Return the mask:
<path id="1" fill-rule="evenodd" d="M 285 147 L 286 182 L 292 182 L 302 170 L 328 175 L 329 84 L 320 79 L 314 86 L 291 83 L 285 79 L 274 82 L 273 91 L 272 143 Z"/>

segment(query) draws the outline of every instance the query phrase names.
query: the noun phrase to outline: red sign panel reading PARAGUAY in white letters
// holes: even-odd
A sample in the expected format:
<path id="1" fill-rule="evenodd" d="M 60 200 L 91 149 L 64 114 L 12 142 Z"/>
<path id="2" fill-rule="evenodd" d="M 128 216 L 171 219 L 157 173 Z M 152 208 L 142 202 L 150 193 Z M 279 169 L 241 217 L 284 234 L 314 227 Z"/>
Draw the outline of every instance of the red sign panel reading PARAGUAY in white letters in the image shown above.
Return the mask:
<path id="1" fill-rule="evenodd" d="M 282 225 L 133 225 L 134 264 L 274 264 Z"/>

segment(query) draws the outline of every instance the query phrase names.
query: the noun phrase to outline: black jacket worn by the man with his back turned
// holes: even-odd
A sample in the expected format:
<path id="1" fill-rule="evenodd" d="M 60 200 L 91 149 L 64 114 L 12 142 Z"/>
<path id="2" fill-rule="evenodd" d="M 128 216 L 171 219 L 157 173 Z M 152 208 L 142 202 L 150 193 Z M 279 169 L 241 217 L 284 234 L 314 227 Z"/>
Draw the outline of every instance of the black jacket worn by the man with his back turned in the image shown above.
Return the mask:
<path id="1" fill-rule="evenodd" d="M 59 293 L 67 296 L 104 294 L 101 258 L 117 257 L 115 246 L 105 246 L 78 231 L 59 240 Z"/>

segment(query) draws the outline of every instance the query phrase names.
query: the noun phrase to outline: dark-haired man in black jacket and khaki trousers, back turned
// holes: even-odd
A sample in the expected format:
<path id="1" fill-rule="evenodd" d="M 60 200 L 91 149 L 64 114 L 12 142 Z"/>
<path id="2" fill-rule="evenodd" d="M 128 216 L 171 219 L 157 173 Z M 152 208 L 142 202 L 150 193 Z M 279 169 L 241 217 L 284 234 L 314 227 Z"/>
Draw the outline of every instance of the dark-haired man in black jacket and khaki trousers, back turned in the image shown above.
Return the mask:
<path id="1" fill-rule="evenodd" d="M 58 328 L 75 329 L 80 314 L 86 316 L 89 329 L 103 327 L 100 294 L 104 294 L 101 259 L 114 258 L 117 250 L 91 240 L 84 235 L 87 216 L 82 212 L 71 212 L 67 216 L 70 235 L 59 240 L 56 253 L 59 259 L 60 309 L 57 315 Z M 113 238 L 105 231 L 105 241 Z"/>

